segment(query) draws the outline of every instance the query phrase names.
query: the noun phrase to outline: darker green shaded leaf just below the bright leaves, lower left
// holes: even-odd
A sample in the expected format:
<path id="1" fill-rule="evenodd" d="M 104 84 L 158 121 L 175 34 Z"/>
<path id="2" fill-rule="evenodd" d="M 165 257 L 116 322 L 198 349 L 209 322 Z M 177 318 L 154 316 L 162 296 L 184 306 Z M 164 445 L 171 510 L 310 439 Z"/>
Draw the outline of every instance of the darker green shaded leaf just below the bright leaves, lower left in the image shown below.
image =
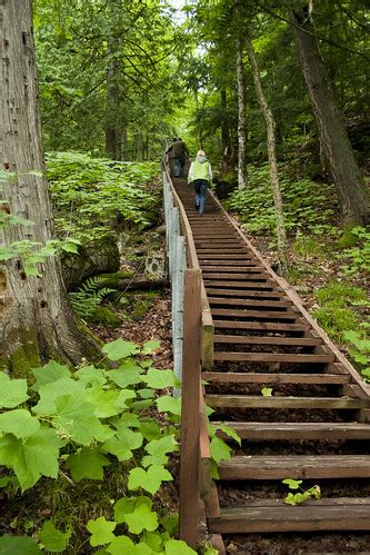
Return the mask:
<path id="1" fill-rule="evenodd" d="M 102 453 L 98 449 L 89 449 L 89 447 L 82 447 L 79 453 L 70 455 L 66 463 L 76 482 L 83 478 L 103 479 L 103 467 L 110 465 L 109 459 Z"/>

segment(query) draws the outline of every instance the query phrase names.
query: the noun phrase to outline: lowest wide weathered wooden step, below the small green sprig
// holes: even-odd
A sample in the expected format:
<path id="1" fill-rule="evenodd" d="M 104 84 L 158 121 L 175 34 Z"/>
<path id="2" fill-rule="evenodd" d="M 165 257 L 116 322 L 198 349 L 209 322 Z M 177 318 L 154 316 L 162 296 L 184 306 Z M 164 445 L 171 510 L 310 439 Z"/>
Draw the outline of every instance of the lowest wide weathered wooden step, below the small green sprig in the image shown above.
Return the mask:
<path id="1" fill-rule="evenodd" d="M 370 498 L 323 498 L 297 507 L 283 499 L 257 501 L 222 508 L 207 522 L 210 534 L 370 531 Z"/>

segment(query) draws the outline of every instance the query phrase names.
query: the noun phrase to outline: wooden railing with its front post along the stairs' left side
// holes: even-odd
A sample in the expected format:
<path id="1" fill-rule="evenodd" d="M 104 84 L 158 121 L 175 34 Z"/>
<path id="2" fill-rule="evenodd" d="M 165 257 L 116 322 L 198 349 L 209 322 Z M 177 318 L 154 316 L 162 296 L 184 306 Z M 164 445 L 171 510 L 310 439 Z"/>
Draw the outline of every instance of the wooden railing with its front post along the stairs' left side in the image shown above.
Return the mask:
<path id="1" fill-rule="evenodd" d="M 204 489 L 201 484 L 207 483 L 210 467 L 204 462 L 211 460 L 207 417 L 203 403 L 203 393 L 200 379 L 201 365 L 204 368 L 213 366 L 213 323 L 206 295 L 201 270 L 198 262 L 196 245 L 189 220 L 183 206 L 172 185 L 168 160 L 163 165 L 163 188 L 166 197 L 167 244 L 170 251 L 170 277 L 179 268 L 171 267 L 176 260 L 176 245 L 182 241 L 171 237 L 177 234 L 183 237 L 186 250 L 186 267 L 183 268 L 183 290 L 181 280 L 172 279 L 172 304 L 183 307 L 182 326 L 182 357 L 181 357 L 181 452 L 180 452 L 180 509 L 179 535 L 191 547 L 198 542 L 198 524 L 200 497 Z M 167 189 L 166 189 L 167 188 Z M 174 214 L 178 214 L 179 227 L 169 221 L 171 219 L 169 195 L 173 204 Z M 169 229 L 170 228 L 170 229 Z M 179 234 L 181 231 L 181 235 Z M 182 271 L 182 270 L 180 270 Z M 182 303 L 178 301 L 182 297 Z M 172 308 L 172 315 L 176 309 Z M 174 338 L 176 339 L 176 338 Z M 179 349 L 178 349 L 179 350 Z M 173 349 L 176 355 L 176 349 Z M 174 360 L 174 363 L 178 360 Z M 200 465 L 202 460 L 202 465 Z M 206 489 L 207 486 L 206 486 Z M 203 497 L 203 495 L 202 495 Z"/>

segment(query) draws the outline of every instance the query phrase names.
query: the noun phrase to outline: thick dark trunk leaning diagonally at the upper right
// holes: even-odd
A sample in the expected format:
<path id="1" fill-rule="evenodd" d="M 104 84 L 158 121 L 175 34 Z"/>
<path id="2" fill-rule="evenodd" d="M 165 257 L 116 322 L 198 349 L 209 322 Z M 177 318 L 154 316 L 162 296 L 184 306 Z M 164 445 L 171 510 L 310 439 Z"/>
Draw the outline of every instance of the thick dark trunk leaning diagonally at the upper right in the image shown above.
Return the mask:
<path id="1" fill-rule="evenodd" d="M 348 139 L 343 116 L 337 106 L 310 16 L 306 10 L 299 13 L 292 11 L 290 20 L 328 169 L 337 186 L 343 215 L 349 221 L 368 225 L 370 195 Z"/>

